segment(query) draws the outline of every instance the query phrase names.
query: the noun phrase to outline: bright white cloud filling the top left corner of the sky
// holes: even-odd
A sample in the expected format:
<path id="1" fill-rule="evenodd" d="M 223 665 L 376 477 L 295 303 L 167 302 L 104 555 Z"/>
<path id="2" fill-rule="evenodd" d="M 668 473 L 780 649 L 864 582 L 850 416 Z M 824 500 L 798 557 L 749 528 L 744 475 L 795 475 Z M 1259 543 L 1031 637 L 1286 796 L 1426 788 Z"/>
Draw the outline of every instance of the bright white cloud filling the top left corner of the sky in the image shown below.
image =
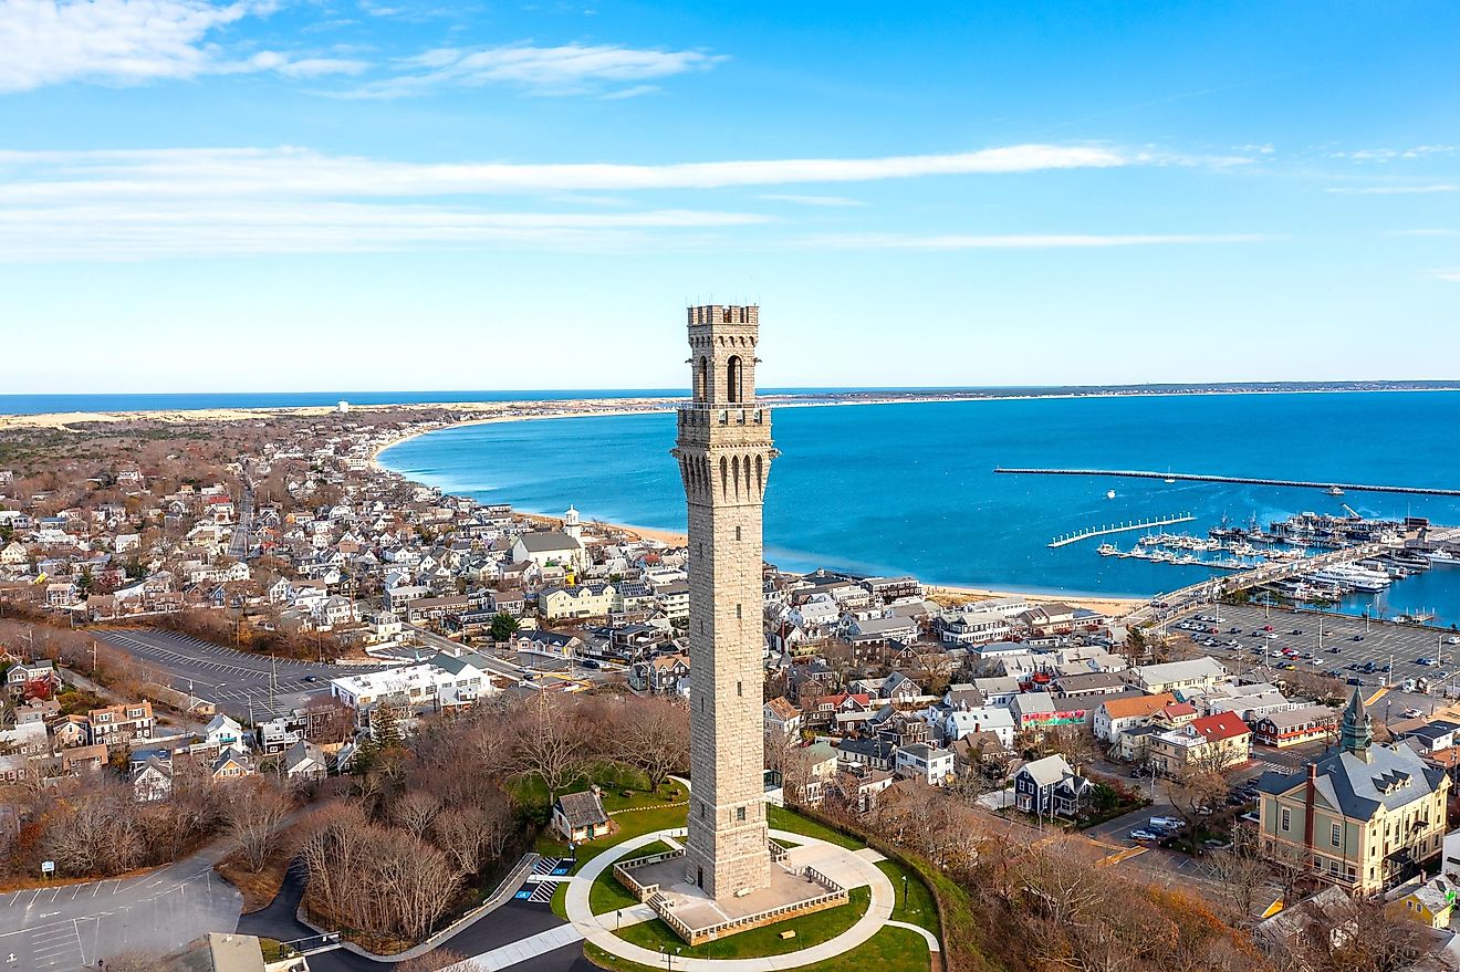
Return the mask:
<path id="1" fill-rule="evenodd" d="M 85 80 L 143 85 L 203 74 L 355 74 L 364 61 L 279 51 L 231 53 L 210 39 L 269 0 L 6 0 L 0 3 L 0 92 Z"/>

